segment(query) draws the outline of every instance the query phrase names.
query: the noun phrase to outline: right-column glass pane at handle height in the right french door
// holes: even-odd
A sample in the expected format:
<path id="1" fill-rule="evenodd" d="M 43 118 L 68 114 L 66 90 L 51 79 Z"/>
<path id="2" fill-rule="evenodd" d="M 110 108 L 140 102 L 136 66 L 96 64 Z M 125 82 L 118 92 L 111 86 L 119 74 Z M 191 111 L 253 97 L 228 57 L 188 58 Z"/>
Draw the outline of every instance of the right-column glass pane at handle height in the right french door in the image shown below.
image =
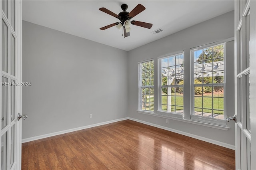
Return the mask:
<path id="1" fill-rule="evenodd" d="M 246 75 L 246 128 L 251 131 L 250 74 Z"/>

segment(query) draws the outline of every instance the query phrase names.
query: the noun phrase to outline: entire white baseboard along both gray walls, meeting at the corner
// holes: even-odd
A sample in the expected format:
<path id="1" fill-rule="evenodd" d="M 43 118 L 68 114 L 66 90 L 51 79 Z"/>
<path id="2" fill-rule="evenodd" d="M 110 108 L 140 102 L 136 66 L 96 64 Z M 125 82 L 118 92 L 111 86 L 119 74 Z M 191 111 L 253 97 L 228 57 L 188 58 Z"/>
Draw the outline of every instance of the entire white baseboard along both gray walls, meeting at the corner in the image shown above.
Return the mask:
<path id="1" fill-rule="evenodd" d="M 157 127 L 157 128 L 161 128 L 161 129 L 164 129 L 164 130 L 168 130 L 170 132 L 182 134 L 184 136 L 189 136 L 189 137 L 192 137 L 192 138 L 196 138 L 198 140 L 202 140 L 202 141 L 205 141 L 205 142 L 209 142 L 209 143 L 212 143 L 212 144 L 223 146 L 225 148 L 229 148 L 229 149 L 235 150 L 235 146 L 231 145 L 231 144 L 226 144 L 226 143 L 223 143 L 223 142 L 220 142 L 220 141 L 217 141 L 217 140 L 212 140 L 212 139 L 209 139 L 209 138 L 204 138 L 202 136 L 190 134 L 190 133 L 187 133 L 187 132 L 182 132 L 180 130 L 176 130 L 176 129 L 172 129 L 172 128 L 156 125 L 156 124 L 153 124 L 153 123 L 141 121 L 141 120 L 134 119 L 134 118 L 131 118 L 131 117 L 126 117 L 126 118 L 122 118 L 122 119 L 115 119 L 115 120 L 112 120 L 112 121 L 106 121 L 106 122 L 102 122 L 102 123 L 96 123 L 96 124 L 88 125 L 88 126 L 84 126 L 84 127 L 78 127 L 78 128 L 68 129 L 68 130 L 62 130 L 60 132 L 43 134 L 43 135 L 40 135 L 40 136 L 31 137 L 31 138 L 25 138 L 25 139 L 22 139 L 22 143 L 30 142 L 30 141 L 38 140 L 38 139 L 42 139 L 42 138 L 48 138 L 48 137 L 56 136 L 56 135 L 59 135 L 59 134 L 65 134 L 65 133 L 69 133 L 69 132 L 74 132 L 74 131 L 82 130 L 82 129 L 86 129 L 86 128 L 92 128 L 92 127 L 97 127 L 97 126 L 101 126 L 101 125 L 106 125 L 106 124 L 109 124 L 109 123 L 124 121 L 124 120 L 127 120 L 127 119 L 131 120 L 131 121 L 136 121 L 136 122 L 139 122 L 139 123 L 143 123 L 143 124 L 146 124 L 146 125 L 150 125 L 152 127 Z"/>

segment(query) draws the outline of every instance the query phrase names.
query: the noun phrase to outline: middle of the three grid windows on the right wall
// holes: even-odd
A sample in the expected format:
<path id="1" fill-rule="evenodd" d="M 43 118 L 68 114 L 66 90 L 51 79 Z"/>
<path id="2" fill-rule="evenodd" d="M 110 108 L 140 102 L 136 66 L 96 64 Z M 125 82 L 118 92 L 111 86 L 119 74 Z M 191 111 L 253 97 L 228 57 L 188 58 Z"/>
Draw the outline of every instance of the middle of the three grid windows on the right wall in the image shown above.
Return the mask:
<path id="1" fill-rule="evenodd" d="M 160 109 L 159 111 L 182 115 L 184 54 L 179 53 L 159 59 L 160 64 Z M 169 114 L 170 115 L 170 114 Z"/>

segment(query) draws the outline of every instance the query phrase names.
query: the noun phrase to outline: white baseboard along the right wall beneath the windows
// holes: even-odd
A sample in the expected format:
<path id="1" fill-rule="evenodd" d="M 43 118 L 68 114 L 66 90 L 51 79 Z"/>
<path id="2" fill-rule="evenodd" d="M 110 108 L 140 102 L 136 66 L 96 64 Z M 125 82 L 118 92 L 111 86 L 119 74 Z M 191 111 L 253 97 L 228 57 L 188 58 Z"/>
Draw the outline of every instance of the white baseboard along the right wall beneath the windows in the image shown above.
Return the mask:
<path id="1" fill-rule="evenodd" d="M 205 142 L 209 142 L 209 143 L 212 143 L 212 144 L 216 144 L 216 145 L 218 145 L 218 146 L 223 146 L 223 147 L 225 147 L 225 148 L 229 148 L 229 149 L 235 150 L 235 146 L 234 146 L 234 145 L 231 145 L 231 144 L 227 144 L 227 143 L 220 142 L 220 141 L 217 141 L 217 140 L 205 138 L 205 137 L 198 136 L 198 135 L 195 135 L 195 134 L 190 134 L 190 133 L 183 132 L 183 131 L 180 131 L 180 130 L 176 130 L 176 129 L 173 129 L 173 128 L 168 128 L 168 127 L 164 127 L 164 126 L 161 126 L 161 125 L 156 125 L 156 124 L 153 124 L 153 123 L 148 123 L 148 122 L 141 121 L 141 120 L 138 120 L 138 119 L 134 119 L 134 118 L 131 118 L 131 117 L 128 117 L 128 119 L 129 119 L 129 120 L 132 120 L 132 121 L 139 122 L 139 123 L 143 123 L 143 124 L 146 124 L 146 125 L 150 125 L 150 126 L 152 126 L 152 127 L 161 128 L 161 129 L 164 129 L 164 130 L 168 130 L 168 131 L 170 131 L 170 132 L 182 134 L 182 135 L 184 135 L 184 136 L 196 138 L 196 139 L 198 139 L 198 140 L 202 140 L 202 141 L 205 141 Z"/>

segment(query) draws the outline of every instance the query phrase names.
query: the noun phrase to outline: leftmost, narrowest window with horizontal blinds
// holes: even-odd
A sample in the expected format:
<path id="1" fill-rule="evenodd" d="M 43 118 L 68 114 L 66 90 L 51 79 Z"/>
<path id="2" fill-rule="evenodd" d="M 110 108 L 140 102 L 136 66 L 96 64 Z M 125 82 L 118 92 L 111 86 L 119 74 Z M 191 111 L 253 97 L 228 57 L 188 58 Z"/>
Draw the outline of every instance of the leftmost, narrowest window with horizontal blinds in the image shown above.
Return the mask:
<path id="1" fill-rule="evenodd" d="M 138 64 L 139 110 L 154 112 L 154 61 Z"/>

